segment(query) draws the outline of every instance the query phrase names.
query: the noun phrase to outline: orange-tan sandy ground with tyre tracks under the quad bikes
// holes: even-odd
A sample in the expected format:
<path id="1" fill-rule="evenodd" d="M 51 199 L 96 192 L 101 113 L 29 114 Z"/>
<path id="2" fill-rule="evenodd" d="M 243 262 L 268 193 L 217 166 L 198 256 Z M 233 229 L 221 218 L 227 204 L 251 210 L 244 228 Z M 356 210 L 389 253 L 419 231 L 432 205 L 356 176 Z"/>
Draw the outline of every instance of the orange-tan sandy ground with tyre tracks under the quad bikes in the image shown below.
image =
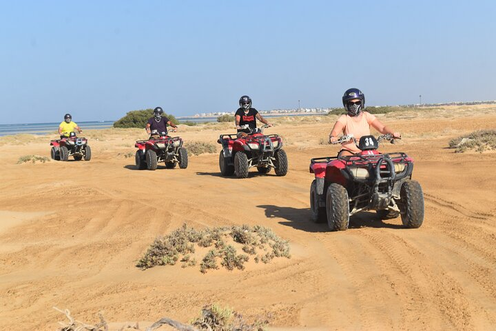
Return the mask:
<path id="1" fill-rule="evenodd" d="M 220 177 L 218 154 L 190 157 L 185 170 L 134 170 L 143 130 L 95 130 L 93 158 L 17 164 L 50 157 L 56 136 L 0 139 L 0 329 L 56 330 L 98 312 L 118 330 L 162 317 L 188 322 L 207 304 L 247 317 L 271 313 L 274 330 L 495 330 L 496 175 L 494 152 L 455 154 L 448 141 L 496 128 L 489 106 L 388 114 L 403 133 L 386 152 L 415 159 L 425 219 L 404 229 L 374 212 L 344 232 L 309 221 L 311 157 L 334 155 L 335 117 L 275 120 L 287 141 L 289 173 Z M 429 119 L 429 120 L 427 120 Z M 180 126 L 186 141 L 215 143 L 227 124 Z M 28 142 L 28 143 L 26 143 Z M 217 145 L 217 144 L 216 144 Z M 220 150 L 220 146 L 218 147 Z M 154 238 L 180 227 L 265 225 L 291 243 L 291 259 L 246 270 L 180 265 L 136 268 Z"/>

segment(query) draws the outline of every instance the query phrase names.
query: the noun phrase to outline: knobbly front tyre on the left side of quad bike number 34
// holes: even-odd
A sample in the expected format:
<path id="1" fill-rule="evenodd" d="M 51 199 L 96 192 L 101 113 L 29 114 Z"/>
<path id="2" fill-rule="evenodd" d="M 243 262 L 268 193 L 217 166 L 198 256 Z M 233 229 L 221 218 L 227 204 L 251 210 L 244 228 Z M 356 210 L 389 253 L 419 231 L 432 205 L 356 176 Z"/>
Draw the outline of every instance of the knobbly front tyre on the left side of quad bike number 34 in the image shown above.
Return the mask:
<path id="1" fill-rule="evenodd" d="M 332 231 L 347 230 L 349 225 L 349 202 L 347 190 L 331 183 L 326 194 L 327 224 Z"/>

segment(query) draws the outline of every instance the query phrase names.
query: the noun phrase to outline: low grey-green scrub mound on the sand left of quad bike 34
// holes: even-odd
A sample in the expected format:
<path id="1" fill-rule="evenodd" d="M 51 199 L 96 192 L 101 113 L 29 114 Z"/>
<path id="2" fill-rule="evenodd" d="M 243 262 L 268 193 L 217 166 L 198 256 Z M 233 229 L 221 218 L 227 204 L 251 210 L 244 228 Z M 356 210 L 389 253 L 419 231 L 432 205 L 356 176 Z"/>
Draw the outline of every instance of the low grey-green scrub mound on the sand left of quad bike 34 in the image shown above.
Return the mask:
<path id="1" fill-rule="evenodd" d="M 238 254 L 236 246 L 240 245 L 242 252 L 247 254 Z M 291 258 L 288 241 L 260 225 L 195 230 L 184 224 L 165 237 L 157 237 L 136 266 L 147 269 L 155 265 L 174 265 L 180 261 L 183 263 L 181 266 L 187 268 L 197 264 L 192 254 L 197 249 L 201 252 L 203 248 L 210 248 L 200 262 L 200 271 L 203 273 L 218 269 L 219 263 L 227 270 L 244 270 L 250 255 L 255 256 L 257 263 L 269 263 L 275 257 Z M 257 254 L 258 251 L 260 254 Z"/>

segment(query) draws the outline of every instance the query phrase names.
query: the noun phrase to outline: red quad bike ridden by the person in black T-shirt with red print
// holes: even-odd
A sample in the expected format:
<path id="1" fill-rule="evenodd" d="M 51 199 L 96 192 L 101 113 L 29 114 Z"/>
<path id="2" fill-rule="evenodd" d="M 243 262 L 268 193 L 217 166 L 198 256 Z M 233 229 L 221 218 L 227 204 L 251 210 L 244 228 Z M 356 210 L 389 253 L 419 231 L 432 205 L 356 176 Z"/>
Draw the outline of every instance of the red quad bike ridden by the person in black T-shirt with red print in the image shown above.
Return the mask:
<path id="1" fill-rule="evenodd" d="M 219 155 L 219 168 L 223 176 L 236 174 L 238 178 L 247 178 L 248 170 L 256 167 L 260 174 L 267 174 L 274 168 L 276 175 L 287 174 L 287 156 L 282 149 L 282 139 L 277 134 L 263 134 L 262 126 L 251 130 L 247 137 L 238 138 L 236 134 L 220 134 L 217 140 L 223 146 Z"/>

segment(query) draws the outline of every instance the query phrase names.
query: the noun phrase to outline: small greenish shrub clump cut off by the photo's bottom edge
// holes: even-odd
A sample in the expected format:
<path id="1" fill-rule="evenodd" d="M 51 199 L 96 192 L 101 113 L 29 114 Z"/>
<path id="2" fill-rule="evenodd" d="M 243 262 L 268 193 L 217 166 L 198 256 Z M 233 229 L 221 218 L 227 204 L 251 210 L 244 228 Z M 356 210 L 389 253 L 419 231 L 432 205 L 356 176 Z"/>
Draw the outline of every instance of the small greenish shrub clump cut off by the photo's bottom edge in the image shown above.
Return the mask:
<path id="1" fill-rule="evenodd" d="M 263 331 L 269 324 L 269 317 L 249 322 L 231 308 L 214 304 L 205 306 L 200 317 L 191 323 L 200 331 Z"/>

